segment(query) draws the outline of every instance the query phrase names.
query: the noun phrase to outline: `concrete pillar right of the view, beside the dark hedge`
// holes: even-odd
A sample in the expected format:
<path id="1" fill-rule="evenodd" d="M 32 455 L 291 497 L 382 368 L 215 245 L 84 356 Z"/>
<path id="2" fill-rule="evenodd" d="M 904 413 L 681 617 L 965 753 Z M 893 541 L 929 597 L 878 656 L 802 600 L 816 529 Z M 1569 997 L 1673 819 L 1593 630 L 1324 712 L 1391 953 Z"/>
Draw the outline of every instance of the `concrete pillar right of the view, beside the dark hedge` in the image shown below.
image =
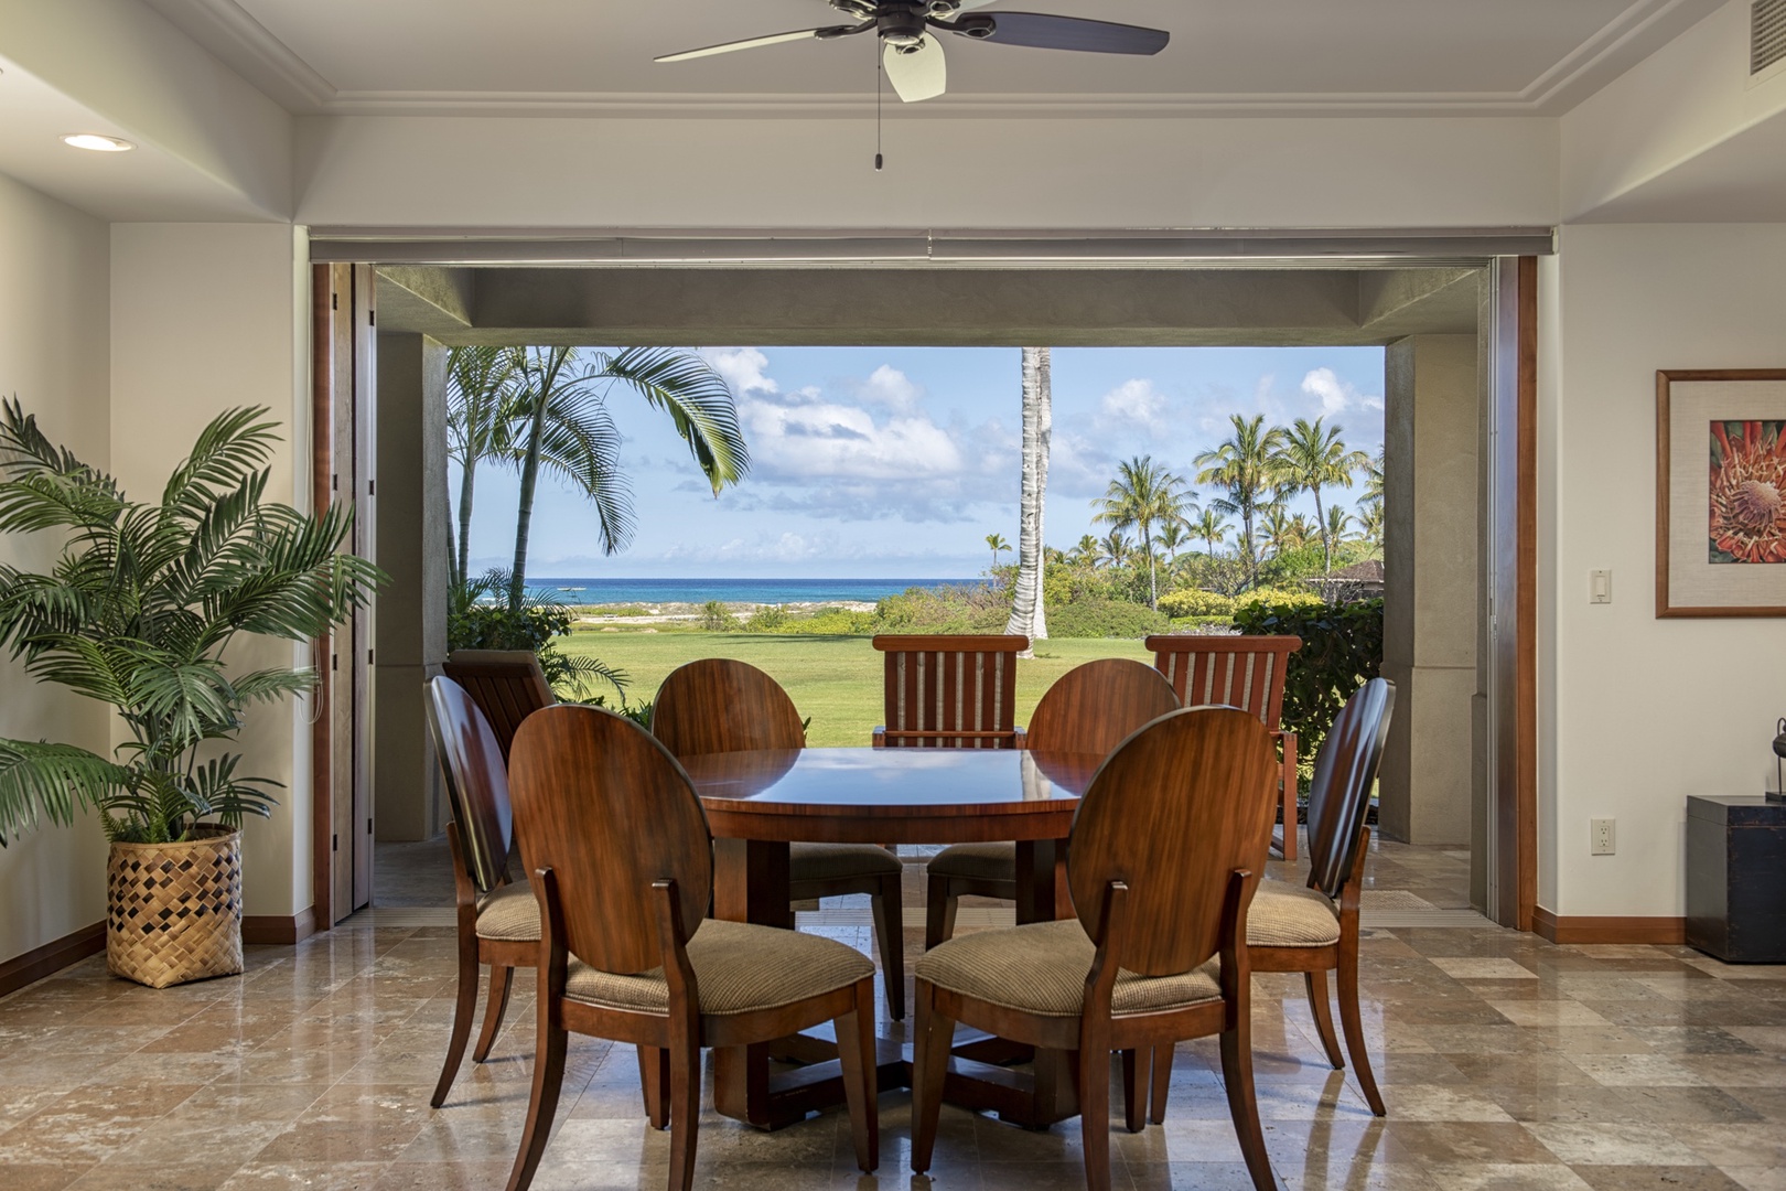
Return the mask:
<path id="1" fill-rule="evenodd" d="M 1475 336 L 1411 336 L 1384 354 L 1384 650 L 1395 720 L 1381 827 L 1472 843 L 1481 587 Z"/>

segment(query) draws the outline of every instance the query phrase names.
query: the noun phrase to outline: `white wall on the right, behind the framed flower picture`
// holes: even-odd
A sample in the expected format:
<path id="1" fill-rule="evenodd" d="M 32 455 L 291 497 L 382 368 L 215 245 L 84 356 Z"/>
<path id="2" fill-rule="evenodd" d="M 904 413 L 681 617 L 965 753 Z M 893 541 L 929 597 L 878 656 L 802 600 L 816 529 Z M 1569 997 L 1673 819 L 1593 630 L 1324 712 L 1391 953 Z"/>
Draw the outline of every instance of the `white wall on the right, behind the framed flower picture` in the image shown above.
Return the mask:
<path id="1" fill-rule="evenodd" d="M 1772 773 L 1786 621 L 1656 620 L 1656 370 L 1786 366 L 1786 223 L 1565 227 L 1540 318 L 1538 900 L 1679 916 L 1686 796 Z"/>

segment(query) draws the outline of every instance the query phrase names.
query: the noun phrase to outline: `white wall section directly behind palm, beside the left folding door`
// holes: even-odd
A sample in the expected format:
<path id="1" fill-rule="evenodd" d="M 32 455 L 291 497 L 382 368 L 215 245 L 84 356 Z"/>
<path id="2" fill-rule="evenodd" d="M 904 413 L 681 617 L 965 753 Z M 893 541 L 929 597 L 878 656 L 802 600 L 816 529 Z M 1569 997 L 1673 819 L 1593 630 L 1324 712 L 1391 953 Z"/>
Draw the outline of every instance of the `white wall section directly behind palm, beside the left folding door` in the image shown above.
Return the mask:
<path id="1" fill-rule="evenodd" d="M 309 505 L 309 266 L 277 223 L 116 223 L 111 232 L 113 470 L 154 495 L 198 430 L 232 405 L 282 423 L 268 498 Z M 239 666 L 309 664 L 309 648 L 255 641 Z M 284 782 L 271 821 L 250 820 L 246 912 L 311 905 L 309 705 L 248 712 L 243 770 Z"/>

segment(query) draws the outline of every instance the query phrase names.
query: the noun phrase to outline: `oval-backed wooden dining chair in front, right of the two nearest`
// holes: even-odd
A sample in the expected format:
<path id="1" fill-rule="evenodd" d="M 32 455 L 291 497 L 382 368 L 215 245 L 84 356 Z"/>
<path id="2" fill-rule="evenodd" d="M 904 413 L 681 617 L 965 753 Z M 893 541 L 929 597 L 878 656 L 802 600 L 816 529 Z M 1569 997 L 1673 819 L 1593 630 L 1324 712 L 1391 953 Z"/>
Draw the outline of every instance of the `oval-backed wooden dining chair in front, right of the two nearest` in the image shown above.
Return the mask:
<path id="1" fill-rule="evenodd" d="M 1188 707 L 1131 736 L 1073 818 L 1077 918 L 950 939 L 916 964 L 913 1170 L 931 1168 L 956 1023 L 1077 1052 L 1086 1186 L 1107 1191 L 1109 1052 L 1220 1034 L 1256 1187 L 1272 1187 L 1252 1082 L 1247 907 L 1272 839 L 1264 725 Z"/>

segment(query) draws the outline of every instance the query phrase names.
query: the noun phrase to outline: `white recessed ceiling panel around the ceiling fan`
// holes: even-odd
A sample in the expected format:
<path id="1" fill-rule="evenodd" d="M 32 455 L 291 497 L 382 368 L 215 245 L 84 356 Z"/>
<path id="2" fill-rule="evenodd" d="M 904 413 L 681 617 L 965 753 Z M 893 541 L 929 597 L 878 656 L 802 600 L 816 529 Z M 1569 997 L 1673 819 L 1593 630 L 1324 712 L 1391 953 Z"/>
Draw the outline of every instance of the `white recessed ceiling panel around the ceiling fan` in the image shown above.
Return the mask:
<path id="1" fill-rule="evenodd" d="M 654 64 L 839 23 L 823 0 L 146 0 L 295 112 L 823 114 L 868 37 Z M 1157 57 L 947 39 L 925 114 L 1557 114 L 1720 0 L 1007 0 L 1172 30 Z"/>

